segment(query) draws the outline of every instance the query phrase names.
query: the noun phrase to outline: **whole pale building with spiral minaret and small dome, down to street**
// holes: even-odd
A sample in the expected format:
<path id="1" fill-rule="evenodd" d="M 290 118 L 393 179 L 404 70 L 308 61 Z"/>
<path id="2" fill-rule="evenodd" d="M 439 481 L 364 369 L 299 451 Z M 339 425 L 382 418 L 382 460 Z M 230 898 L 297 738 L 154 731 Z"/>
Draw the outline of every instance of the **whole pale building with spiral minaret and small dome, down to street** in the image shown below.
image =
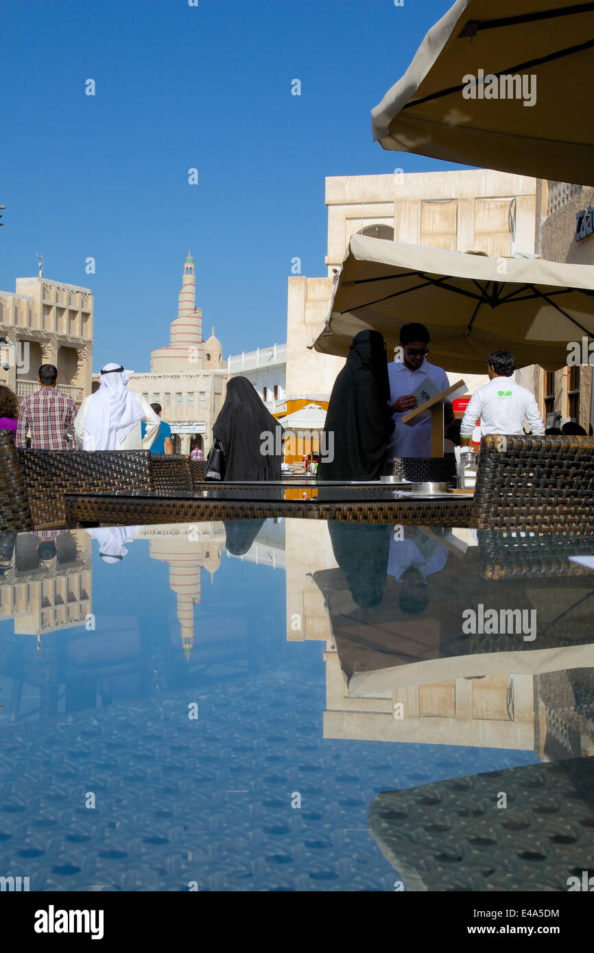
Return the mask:
<path id="1" fill-rule="evenodd" d="M 202 310 L 195 307 L 195 260 L 188 253 L 169 347 L 153 351 L 150 373 L 131 372 L 128 387 L 150 403 L 161 404 L 163 420 L 172 427 L 174 450 L 188 454 L 195 447 L 210 449 L 226 380 L 227 368 L 215 329 L 203 340 Z"/>

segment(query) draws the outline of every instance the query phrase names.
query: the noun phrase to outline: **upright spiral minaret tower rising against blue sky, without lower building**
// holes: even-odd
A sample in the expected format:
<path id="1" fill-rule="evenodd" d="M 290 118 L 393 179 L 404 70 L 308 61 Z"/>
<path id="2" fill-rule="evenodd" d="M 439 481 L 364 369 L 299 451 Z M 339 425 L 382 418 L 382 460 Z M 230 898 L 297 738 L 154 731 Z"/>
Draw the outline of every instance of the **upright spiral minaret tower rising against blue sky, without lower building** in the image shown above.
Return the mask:
<path id="1" fill-rule="evenodd" d="M 168 348 L 158 348 L 152 352 L 151 371 L 195 372 L 203 366 L 203 353 L 202 309 L 195 306 L 195 260 L 188 252 L 178 296 L 177 317 L 170 328 L 170 344 Z"/>

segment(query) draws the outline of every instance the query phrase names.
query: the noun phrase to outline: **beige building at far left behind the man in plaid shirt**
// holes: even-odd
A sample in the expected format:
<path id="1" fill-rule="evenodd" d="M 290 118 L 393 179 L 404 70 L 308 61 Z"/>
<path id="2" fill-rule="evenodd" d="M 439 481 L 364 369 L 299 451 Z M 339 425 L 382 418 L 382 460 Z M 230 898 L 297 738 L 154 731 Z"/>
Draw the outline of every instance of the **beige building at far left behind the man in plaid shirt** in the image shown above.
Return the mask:
<path id="1" fill-rule="evenodd" d="M 41 364 L 55 364 L 58 389 L 76 403 L 91 393 L 92 294 L 88 288 L 41 276 L 17 278 L 16 294 L 0 292 L 1 335 L 28 345 L 12 355 L 9 352 L 10 370 L 0 371 L 0 383 L 17 396 L 38 390 Z"/>

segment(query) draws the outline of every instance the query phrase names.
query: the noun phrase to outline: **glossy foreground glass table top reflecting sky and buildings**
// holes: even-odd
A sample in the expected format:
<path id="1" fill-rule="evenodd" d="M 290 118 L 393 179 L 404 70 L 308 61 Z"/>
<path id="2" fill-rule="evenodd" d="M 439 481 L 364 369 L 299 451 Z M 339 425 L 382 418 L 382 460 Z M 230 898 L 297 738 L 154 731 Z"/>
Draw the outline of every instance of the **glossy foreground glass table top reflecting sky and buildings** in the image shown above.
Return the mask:
<path id="1" fill-rule="evenodd" d="M 579 538 L 325 520 L 0 536 L 0 873 L 566 890 L 594 847 L 592 564 Z M 481 820 L 542 778 L 548 814 Z"/>

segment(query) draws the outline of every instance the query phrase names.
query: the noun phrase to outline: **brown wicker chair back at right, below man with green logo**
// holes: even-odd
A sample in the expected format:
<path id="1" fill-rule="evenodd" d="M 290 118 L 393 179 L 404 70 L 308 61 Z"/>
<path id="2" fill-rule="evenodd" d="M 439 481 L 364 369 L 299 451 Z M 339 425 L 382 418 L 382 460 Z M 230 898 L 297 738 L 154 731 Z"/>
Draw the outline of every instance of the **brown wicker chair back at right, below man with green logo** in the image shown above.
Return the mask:
<path id="1" fill-rule="evenodd" d="M 483 436 L 471 525 L 594 534 L 594 438 Z"/>

